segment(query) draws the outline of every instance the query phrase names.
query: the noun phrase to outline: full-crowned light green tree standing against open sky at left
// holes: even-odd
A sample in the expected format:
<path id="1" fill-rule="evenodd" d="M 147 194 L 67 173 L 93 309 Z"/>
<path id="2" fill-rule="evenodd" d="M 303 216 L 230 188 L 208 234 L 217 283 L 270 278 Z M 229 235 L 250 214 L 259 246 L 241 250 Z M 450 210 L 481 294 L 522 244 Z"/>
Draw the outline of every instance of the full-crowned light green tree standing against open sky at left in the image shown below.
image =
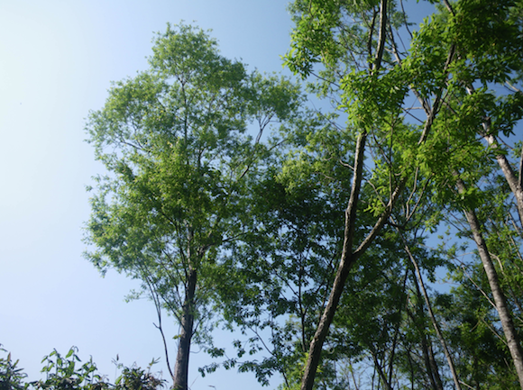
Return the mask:
<path id="1" fill-rule="evenodd" d="M 302 96 L 288 80 L 248 74 L 188 25 L 168 25 L 152 50 L 151 68 L 115 83 L 89 115 L 88 141 L 107 174 L 96 178 L 87 258 L 141 280 L 174 315 L 170 373 L 185 390 L 190 344 L 205 340 L 220 286 L 234 280 L 226 245 L 250 228 L 246 186 L 263 155 L 261 133 L 292 118 Z"/>

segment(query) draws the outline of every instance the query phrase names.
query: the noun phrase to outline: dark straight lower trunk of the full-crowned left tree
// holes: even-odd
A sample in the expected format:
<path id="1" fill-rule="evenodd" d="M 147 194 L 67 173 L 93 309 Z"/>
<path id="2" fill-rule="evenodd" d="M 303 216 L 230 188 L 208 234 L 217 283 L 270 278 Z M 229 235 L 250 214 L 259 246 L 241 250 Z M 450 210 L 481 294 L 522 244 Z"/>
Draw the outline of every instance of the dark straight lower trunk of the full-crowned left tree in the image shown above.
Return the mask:
<path id="1" fill-rule="evenodd" d="M 172 388 L 174 390 L 188 390 L 188 357 L 190 342 L 194 328 L 194 298 L 197 285 L 197 271 L 190 268 L 188 271 L 188 284 L 183 303 L 183 313 L 180 323 L 178 354 L 174 368 Z"/>

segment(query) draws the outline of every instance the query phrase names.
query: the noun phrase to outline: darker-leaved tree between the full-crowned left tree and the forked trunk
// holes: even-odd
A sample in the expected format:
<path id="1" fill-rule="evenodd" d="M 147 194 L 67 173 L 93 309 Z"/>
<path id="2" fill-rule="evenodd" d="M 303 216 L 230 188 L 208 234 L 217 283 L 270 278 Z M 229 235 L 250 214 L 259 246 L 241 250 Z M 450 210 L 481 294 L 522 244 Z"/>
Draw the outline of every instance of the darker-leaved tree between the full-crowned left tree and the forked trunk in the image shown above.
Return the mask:
<path id="1" fill-rule="evenodd" d="M 237 341 L 240 358 L 245 345 L 269 352 L 261 362 L 240 365 L 255 371 L 262 383 L 274 371 L 286 385 L 292 383 L 341 249 L 343 225 L 335 210 L 343 199 L 340 183 L 350 181 L 350 172 L 338 159 L 349 157 L 352 142 L 326 119 L 310 113 L 271 141 L 267 167 L 252 183 L 256 229 L 233 251 L 243 265 L 243 288 L 237 295 L 231 290 L 225 294 L 227 318 L 252 333 L 247 342 Z M 263 331 L 271 336 L 263 338 Z"/>

